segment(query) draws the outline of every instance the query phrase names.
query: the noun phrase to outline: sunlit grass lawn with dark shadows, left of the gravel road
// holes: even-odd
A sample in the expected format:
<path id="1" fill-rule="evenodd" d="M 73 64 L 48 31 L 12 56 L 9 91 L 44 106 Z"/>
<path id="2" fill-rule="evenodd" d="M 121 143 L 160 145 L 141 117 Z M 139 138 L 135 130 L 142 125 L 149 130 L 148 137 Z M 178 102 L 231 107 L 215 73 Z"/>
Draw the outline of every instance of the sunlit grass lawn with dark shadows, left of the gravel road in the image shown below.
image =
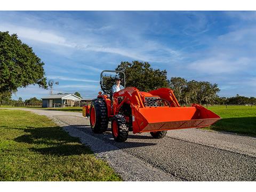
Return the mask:
<path id="1" fill-rule="evenodd" d="M 121 180 L 49 118 L 9 109 L 0 116 L 0 181 Z"/>

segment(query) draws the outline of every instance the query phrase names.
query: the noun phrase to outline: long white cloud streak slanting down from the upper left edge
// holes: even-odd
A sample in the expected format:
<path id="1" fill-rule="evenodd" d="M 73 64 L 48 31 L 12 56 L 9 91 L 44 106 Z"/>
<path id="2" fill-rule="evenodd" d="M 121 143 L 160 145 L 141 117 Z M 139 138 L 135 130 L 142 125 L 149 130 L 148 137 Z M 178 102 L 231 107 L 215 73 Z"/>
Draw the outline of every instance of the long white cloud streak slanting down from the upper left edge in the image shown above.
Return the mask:
<path id="1" fill-rule="evenodd" d="M 95 30 L 106 29 L 111 29 L 111 27 L 102 27 L 102 29 L 100 28 Z M 110 42 L 106 41 L 106 39 L 101 35 L 95 34 L 89 34 L 90 38 L 86 38 L 87 34 L 83 37 L 79 37 L 76 34 L 65 36 L 64 34 L 57 33 L 51 29 L 42 30 L 33 27 L 12 25 L 10 23 L 1 23 L 0 30 L 8 30 L 11 34 L 17 33 L 20 38 L 29 39 L 38 43 L 58 45 L 79 51 L 118 54 L 132 59 L 152 62 L 170 62 L 170 60 L 180 60 L 180 53 L 178 51 L 154 41 L 145 41 L 145 39 L 140 36 L 135 37 L 136 35 L 130 36 L 133 39 L 130 39 L 132 43 L 129 47 L 129 45 L 113 46 L 111 40 Z M 52 47 L 49 46 L 49 49 L 52 49 Z M 95 68 L 91 66 L 90 68 L 95 70 Z"/>

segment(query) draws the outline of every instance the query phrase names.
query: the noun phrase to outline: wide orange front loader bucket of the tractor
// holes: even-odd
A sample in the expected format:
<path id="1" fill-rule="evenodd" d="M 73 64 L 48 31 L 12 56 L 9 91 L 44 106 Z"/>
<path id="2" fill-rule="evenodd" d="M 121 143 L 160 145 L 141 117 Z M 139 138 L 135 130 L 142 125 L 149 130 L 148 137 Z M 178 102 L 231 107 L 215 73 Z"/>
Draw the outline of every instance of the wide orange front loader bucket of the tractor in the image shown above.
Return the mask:
<path id="1" fill-rule="evenodd" d="M 196 104 L 192 107 L 134 108 L 133 115 L 133 133 L 207 127 L 221 119 Z"/>

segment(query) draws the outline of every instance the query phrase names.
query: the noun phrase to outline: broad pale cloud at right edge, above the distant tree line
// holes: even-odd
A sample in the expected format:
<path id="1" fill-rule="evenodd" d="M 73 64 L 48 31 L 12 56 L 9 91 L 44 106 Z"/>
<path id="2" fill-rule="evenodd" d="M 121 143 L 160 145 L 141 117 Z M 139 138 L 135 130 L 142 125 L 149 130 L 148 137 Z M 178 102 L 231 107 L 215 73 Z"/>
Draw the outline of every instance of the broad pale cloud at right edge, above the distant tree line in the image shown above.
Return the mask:
<path id="1" fill-rule="evenodd" d="M 198 59 L 188 69 L 206 74 L 235 74 L 255 70 L 256 28 L 243 28 L 220 35 L 209 48 L 197 53 Z"/>

